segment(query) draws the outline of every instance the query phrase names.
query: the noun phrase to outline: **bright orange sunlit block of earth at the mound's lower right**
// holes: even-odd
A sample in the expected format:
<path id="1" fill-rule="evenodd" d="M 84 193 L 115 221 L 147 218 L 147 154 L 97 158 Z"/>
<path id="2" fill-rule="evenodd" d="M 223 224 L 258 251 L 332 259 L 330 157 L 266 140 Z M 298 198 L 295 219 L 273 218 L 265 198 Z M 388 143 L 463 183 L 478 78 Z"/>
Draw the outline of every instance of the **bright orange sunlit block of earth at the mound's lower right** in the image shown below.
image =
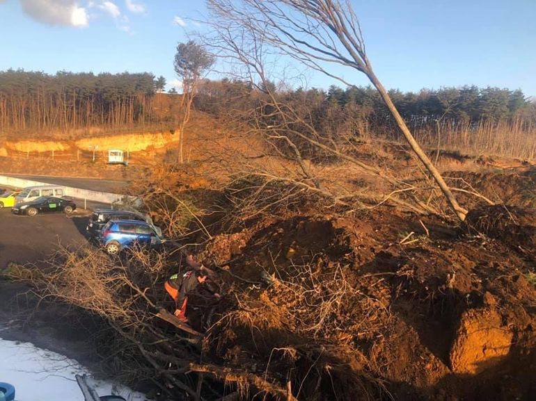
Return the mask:
<path id="1" fill-rule="evenodd" d="M 496 311 L 467 311 L 450 350 L 450 366 L 455 373 L 481 373 L 505 359 L 513 337 Z"/>

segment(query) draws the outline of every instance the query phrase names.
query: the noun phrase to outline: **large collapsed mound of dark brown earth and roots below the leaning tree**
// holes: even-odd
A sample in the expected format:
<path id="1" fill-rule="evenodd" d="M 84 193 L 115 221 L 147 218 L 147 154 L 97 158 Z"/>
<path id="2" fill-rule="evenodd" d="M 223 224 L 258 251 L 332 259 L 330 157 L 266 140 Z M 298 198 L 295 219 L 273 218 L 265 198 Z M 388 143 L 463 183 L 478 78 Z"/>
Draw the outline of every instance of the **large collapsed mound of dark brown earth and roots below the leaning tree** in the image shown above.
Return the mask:
<path id="1" fill-rule="evenodd" d="M 213 352 L 292 372 L 308 400 L 531 400 L 528 256 L 507 236 L 422 221 L 428 233 L 386 211 L 296 215 L 216 237 L 203 256 L 236 302 Z"/>

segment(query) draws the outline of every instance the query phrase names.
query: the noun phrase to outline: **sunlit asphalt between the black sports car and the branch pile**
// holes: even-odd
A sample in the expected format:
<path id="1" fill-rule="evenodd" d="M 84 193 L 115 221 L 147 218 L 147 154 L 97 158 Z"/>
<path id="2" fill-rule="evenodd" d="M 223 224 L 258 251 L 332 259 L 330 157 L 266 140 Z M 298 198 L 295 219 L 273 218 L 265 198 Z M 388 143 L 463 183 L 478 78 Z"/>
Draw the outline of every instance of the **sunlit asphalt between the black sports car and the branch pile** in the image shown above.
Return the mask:
<path id="1" fill-rule="evenodd" d="M 88 217 L 50 213 L 35 217 L 13 215 L 11 208 L 0 209 L 0 269 L 8 263 L 38 263 L 52 255 L 58 245 L 78 247 Z"/>

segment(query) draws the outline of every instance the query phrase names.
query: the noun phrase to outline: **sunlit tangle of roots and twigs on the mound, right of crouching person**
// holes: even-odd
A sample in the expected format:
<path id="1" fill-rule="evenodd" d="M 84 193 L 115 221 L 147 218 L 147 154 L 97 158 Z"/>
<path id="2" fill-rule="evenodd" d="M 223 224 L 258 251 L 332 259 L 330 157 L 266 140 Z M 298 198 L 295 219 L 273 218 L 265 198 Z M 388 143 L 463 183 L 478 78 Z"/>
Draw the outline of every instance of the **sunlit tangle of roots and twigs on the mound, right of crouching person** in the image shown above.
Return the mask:
<path id="1" fill-rule="evenodd" d="M 389 313 L 358 290 L 347 268 L 318 255 L 285 272 L 265 271 L 260 286 L 231 288 L 235 306 L 212 331 L 214 352 L 235 368 L 292 382 L 299 400 L 388 399 L 358 345 L 384 331 Z"/>

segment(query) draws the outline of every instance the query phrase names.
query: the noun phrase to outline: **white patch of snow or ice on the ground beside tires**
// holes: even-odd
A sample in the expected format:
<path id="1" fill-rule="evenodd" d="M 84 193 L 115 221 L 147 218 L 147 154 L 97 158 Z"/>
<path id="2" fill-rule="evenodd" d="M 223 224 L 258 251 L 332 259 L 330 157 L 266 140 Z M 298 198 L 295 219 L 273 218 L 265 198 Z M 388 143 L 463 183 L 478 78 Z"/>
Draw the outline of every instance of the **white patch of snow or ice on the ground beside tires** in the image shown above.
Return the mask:
<path id="1" fill-rule="evenodd" d="M 88 375 L 99 395 L 120 395 L 127 401 L 145 396 L 113 382 L 95 380 L 84 366 L 61 354 L 42 350 L 31 343 L 0 338 L 0 382 L 15 386 L 16 401 L 84 401 L 74 375 Z"/>

